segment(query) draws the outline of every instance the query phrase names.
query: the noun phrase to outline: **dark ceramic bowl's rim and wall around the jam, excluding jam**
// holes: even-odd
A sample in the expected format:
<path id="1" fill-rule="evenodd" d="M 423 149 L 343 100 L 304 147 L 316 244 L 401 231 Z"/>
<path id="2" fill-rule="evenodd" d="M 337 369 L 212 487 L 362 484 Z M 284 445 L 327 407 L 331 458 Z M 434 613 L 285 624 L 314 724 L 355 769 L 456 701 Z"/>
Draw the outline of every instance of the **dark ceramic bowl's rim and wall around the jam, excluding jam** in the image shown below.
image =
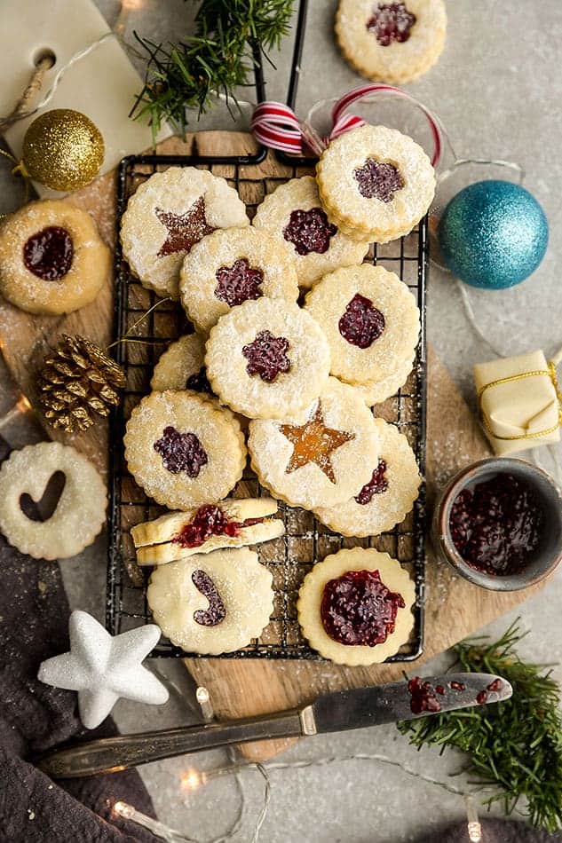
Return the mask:
<path id="1" fill-rule="evenodd" d="M 479 571 L 466 563 L 458 553 L 449 528 L 451 508 L 458 494 L 467 486 L 489 480 L 498 474 L 511 474 L 530 486 L 540 500 L 545 525 L 541 542 L 522 571 L 505 576 Z M 464 579 L 492 591 L 518 591 L 532 586 L 554 571 L 562 558 L 562 491 L 545 471 L 530 462 L 510 457 L 475 462 L 463 469 L 441 494 L 431 524 L 431 538 L 439 557 L 449 563 Z"/>

